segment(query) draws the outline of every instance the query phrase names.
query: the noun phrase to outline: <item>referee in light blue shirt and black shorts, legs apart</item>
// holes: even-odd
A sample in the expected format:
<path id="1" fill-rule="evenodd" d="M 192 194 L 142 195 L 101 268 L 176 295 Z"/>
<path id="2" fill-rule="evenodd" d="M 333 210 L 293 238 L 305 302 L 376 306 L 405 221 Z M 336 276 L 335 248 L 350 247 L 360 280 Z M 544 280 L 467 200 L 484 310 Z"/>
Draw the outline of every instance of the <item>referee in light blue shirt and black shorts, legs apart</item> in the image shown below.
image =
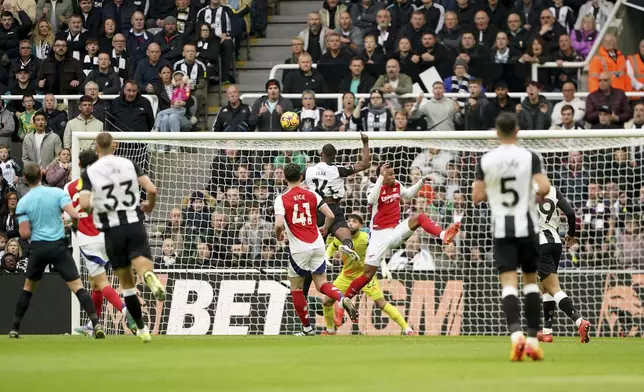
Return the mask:
<path id="1" fill-rule="evenodd" d="M 74 258 L 67 248 L 65 227 L 61 212 L 65 211 L 72 219 L 79 215 L 72 207 L 72 201 L 67 192 L 60 188 L 41 185 L 40 167 L 36 163 L 25 165 L 24 176 L 30 191 L 20 201 L 16 208 L 20 237 L 31 240 L 29 244 L 29 263 L 25 285 L 16 304 L 16 313 L 9 337 L 20 337 L 20 322 L 24 317 L 31 297 L 36 292 L 38 282 L 42 279 L 45 268 L 53 264 L 67 287 L 76 294 L 81 306 L 87 312 L 94 326 L 94 337 L 104 339 L 105 332 L 98 323 L 96 309 L 92 298 L 83 287 Z"/>

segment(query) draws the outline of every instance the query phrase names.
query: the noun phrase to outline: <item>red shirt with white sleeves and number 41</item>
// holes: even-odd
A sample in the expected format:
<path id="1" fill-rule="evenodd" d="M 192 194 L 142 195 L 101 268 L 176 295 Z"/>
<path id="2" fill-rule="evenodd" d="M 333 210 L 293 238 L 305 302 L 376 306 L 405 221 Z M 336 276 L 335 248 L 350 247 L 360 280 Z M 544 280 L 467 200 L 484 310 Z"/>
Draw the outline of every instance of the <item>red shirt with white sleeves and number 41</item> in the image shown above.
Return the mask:
<path id="1" fill-rule="evenodd" d="M 288 189 L 275 198 L 275 215 L 284 217 L 291 253 L 324 249 L 317 225 L 317 210 L 323 205 L 320 195 L 300 187 Z"/>

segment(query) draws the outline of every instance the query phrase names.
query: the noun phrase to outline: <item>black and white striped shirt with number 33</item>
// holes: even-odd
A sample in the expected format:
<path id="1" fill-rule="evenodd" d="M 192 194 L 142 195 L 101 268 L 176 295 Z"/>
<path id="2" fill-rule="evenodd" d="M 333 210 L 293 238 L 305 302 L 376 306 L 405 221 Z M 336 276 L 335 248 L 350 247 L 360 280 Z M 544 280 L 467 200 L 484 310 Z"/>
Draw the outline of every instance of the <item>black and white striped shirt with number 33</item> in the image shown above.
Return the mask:
<path id="1" fill-rule="evenodd" d="M 137 164 L 115 155 L 100 158 L 82 173 L 81 193 L 93 194 L 97 229 L 143 223 L 145 215 L 139 205 L 139 177 L 143 175 Z"/>

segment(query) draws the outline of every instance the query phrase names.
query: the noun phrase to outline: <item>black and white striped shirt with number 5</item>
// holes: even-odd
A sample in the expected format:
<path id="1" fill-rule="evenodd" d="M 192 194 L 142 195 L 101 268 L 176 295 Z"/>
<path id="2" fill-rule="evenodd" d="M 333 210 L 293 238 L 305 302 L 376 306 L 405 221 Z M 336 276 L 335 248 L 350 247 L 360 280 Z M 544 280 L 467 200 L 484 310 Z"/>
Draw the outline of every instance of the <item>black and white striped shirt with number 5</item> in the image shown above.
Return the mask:
<path id="1" fill-rule="evenodd" d="M 532 176 L 541 172 L 537 154 L 501 145 L 483 155 L 476 179 L 484 181 L 494 238 L 526 238 L 539 232 Z"/>

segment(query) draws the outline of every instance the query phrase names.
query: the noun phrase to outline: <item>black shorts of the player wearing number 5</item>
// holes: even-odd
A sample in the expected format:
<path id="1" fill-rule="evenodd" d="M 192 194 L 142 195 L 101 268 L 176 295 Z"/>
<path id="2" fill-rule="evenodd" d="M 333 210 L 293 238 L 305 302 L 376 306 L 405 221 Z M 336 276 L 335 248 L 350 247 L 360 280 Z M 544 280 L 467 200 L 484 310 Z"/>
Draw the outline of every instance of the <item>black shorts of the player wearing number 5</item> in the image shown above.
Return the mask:
<path id="1" fill-rule="evenodd" d="M 516 271 L 537 272 L 539 269 L 539 236 L 525 238 L 495 238 L 494 265 L 499 273 Z"/>

